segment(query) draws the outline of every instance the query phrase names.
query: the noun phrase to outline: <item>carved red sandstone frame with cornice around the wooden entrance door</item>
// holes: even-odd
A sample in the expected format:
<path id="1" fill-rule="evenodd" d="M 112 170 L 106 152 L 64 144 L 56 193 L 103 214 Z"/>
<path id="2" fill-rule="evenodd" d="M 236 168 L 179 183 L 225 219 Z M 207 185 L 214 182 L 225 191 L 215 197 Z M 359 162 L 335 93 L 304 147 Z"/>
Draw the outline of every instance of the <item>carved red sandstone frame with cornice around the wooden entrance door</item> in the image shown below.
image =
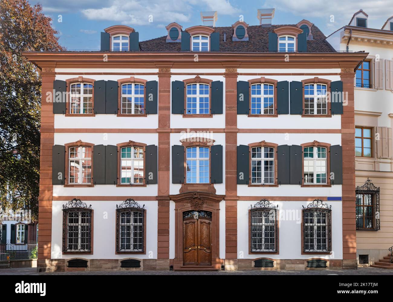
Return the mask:
<path id="1" fill-rule="evenodd" d="M 211 212 L 211 266 L 200 266 L 206 268 L 221 269 L 224 263 L 220 259 L 220 201 L 225 195 L 216 195 L 207 192 L 187 192 L 169 195 L 175 203 L 175 256 L 173 269 L 185 269 L 190 265 L 183 265 L 183 212 L 190 210 L 203 210 Z"/>

